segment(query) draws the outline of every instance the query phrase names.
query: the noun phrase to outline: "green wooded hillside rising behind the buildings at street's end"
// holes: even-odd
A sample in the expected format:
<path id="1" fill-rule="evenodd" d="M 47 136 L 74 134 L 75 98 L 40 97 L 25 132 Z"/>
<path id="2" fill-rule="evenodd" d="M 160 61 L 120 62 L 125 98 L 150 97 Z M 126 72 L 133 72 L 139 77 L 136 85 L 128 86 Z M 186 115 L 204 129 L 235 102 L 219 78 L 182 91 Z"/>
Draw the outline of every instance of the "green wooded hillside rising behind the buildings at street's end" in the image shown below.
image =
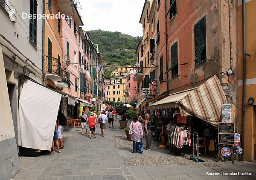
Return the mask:
<path id="1" fill-rule="evenodd" d="M 94 44 L 98 44 L 103 62 L 113 68 L 107 68 L 105 79 L 111 78 L 110 73 L 116 66 L 134 65 L 137 60 L 135 53 L 142 37 L 132 37 L 121 32 L 87 31 Z"/>

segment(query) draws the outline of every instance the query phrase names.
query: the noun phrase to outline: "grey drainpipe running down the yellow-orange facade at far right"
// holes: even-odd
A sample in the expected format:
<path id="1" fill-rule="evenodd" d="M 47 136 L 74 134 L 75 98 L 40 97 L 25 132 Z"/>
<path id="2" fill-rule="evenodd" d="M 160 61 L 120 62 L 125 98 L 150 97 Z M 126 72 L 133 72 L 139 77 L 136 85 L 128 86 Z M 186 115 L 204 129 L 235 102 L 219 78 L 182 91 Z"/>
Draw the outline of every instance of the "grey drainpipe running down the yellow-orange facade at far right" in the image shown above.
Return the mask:
<path id="1" fill-rule="evenodd" d="M 243 96 L 242 96 L 242 127 L 241 127 L 241 148 L 244 149 L 244 116 L 245 116 L 245 88 L 246 88 L 246 56 L 245 56 L 245 0 L 242 0 L 242 25 L 243 25 Z M 241 160 L 244 160 L 244 151 L 241 154 Z"/>

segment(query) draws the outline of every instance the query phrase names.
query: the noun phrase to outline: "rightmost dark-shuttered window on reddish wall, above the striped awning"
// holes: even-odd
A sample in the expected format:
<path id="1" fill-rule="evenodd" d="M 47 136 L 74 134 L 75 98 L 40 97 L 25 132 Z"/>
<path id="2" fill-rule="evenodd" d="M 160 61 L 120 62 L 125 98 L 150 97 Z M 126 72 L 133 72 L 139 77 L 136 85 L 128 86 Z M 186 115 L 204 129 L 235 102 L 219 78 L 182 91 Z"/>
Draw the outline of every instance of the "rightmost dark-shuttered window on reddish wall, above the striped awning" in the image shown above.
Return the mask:
<path id="1" fill-rule="evenodd" d="M 194 26 L 195 35 L 195 66 L 200 66 L 206 59 L 206 20 L 203 17 Z"/>

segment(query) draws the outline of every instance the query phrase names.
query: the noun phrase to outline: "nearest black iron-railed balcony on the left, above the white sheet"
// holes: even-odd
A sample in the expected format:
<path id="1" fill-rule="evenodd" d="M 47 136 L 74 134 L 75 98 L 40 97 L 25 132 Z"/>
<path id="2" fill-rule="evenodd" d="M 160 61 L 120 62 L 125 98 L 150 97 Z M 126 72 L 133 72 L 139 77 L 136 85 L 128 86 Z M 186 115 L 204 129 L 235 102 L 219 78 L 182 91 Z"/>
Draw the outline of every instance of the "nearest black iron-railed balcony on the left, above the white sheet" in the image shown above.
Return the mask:
<path id="1" fill-rule="evenodd" d="M 52 81 L 61 81 L 61 63 L 55 57 L 47 56 L 47 63 L 48 63 L 48 71 L 47 71 L 47 78 Z"/>

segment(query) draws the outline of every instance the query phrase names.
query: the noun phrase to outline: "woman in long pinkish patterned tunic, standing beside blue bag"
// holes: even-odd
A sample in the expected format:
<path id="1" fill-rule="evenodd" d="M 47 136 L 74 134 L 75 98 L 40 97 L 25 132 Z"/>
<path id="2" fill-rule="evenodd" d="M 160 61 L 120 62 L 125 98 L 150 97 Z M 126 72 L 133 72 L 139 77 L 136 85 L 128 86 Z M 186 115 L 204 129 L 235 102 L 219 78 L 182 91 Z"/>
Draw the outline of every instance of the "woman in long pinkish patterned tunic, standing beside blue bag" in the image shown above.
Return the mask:
<path id="1" fill-rule="evenodd" d="M 131 122 L 130 129 L 132 129 L 131 140 L 132 140 L 132 153 L 137 153 L 139 151 L 140 139 L 143 137 L 143 130 L 141 123 L 138 121 L 138 116 L 134 116 Z"/>

